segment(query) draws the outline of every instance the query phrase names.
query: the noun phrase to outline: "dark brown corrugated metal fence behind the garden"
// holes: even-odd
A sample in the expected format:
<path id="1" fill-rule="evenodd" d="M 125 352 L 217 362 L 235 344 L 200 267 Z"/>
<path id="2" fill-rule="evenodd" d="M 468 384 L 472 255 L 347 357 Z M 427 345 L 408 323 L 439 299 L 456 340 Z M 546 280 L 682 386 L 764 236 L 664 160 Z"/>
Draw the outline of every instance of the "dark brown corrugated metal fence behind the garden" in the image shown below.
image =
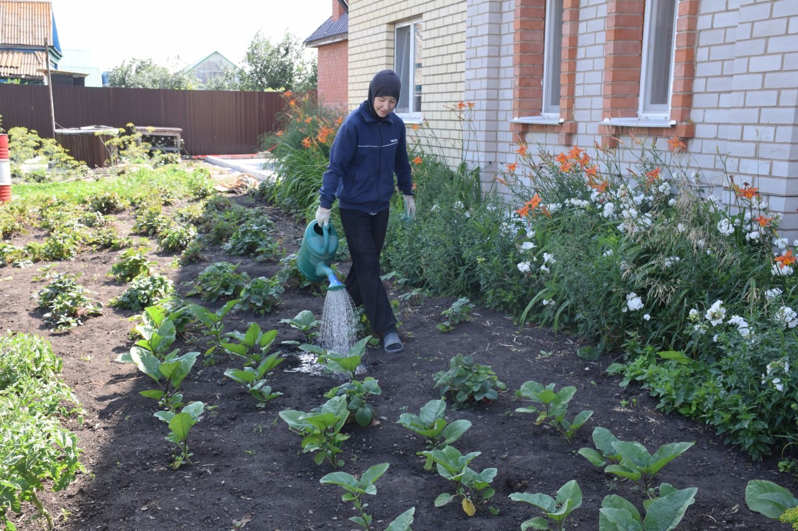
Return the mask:
<path id="1" fill-rule="evenodd" d="M 191 155 L 258 151 L 259 136 L 275 130 L 284 104 L 279 92 L 53 86 L 58 128 L 128 123 L 182 128 Z M 0 115 L 6 130 L 24 127 L 53 137 L 44 85 L 0 84 Z"/>

